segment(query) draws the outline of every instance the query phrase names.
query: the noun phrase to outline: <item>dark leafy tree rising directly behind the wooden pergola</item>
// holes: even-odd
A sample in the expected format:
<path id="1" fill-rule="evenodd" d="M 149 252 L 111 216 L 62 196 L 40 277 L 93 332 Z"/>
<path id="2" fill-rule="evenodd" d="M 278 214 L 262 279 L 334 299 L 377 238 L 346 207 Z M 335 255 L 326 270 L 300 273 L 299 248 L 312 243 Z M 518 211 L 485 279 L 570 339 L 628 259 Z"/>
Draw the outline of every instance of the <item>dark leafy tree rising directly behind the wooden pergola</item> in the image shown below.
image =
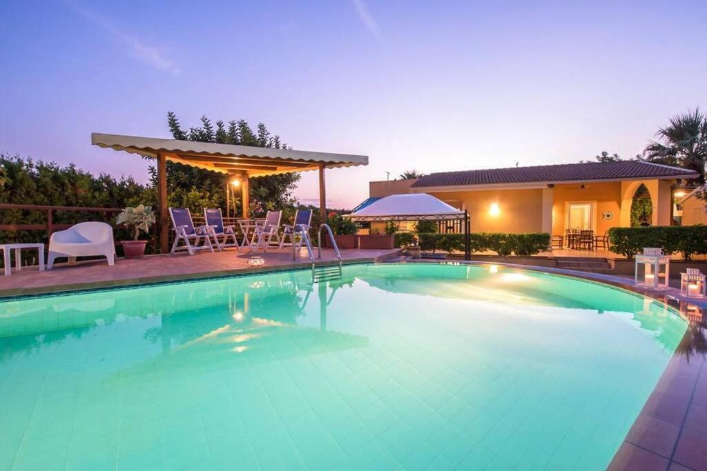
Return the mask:
<path id="1" fill-rule="evenodd" d="M 182 129 L 173 112 L 167 113 L 167 124 L 173 138 L 182 141 L 199 141 L 221 144 L 252 145 L 255 147 L 287 149 L 279 136 L 272 136 L 267 127 L 259 123 L 254 133 L 245 119 L 238 121 L 216 121 L 216 127 L 207 117 L 201 117 L 201 126 Z M 150 168 L 153 186 L 156 186 L 157 172 Z M 201 211 L 205 206 L 226 207 L 226 174 L 210 172 L 206 169 L 189 167 L 176 162 L 167 162 L 167 186 L 170 205 Z M 296 205 L 292 192 L 300 179 L 298 173 L 255 177 L 250 181 L 250 210 L 254 216 L 263 215 L 267 210 L 291 208 Z M 153 203 L 153 202 L 151 202 Z M 234 213 L 240 212 L 240 201 L 233 201 Z"/>

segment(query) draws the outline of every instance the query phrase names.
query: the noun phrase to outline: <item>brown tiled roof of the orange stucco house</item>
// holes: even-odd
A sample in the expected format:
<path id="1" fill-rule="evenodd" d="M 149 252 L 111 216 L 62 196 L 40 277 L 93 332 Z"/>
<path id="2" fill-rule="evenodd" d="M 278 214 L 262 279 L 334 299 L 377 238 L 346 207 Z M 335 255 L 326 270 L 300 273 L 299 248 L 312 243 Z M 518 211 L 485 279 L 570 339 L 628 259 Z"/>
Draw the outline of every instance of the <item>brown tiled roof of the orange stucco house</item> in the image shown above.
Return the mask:
<path id="1" fill-rule="evenodd" d="M 514 184 L 532 182 L 589 181 L 631 178 L 696 178 L 692 170 L 667 165 L 623 160 L 580 164 L 537 165 L 506 169 L 465 170 L 428 174 L 412 187 Z"/>

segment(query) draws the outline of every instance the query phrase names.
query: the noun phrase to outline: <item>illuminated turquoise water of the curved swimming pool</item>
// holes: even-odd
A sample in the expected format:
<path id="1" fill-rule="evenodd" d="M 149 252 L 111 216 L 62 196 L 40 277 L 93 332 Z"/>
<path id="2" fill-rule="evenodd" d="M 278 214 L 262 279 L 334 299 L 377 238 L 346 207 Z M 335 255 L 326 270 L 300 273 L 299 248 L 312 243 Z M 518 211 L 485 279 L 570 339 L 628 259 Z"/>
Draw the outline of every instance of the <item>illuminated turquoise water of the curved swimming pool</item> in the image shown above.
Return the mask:
<path id="1" fill-rule="evenodd" d="M 603 469 L 685 330 L 430 264 L 3 302 L 0 470 Z"/>

